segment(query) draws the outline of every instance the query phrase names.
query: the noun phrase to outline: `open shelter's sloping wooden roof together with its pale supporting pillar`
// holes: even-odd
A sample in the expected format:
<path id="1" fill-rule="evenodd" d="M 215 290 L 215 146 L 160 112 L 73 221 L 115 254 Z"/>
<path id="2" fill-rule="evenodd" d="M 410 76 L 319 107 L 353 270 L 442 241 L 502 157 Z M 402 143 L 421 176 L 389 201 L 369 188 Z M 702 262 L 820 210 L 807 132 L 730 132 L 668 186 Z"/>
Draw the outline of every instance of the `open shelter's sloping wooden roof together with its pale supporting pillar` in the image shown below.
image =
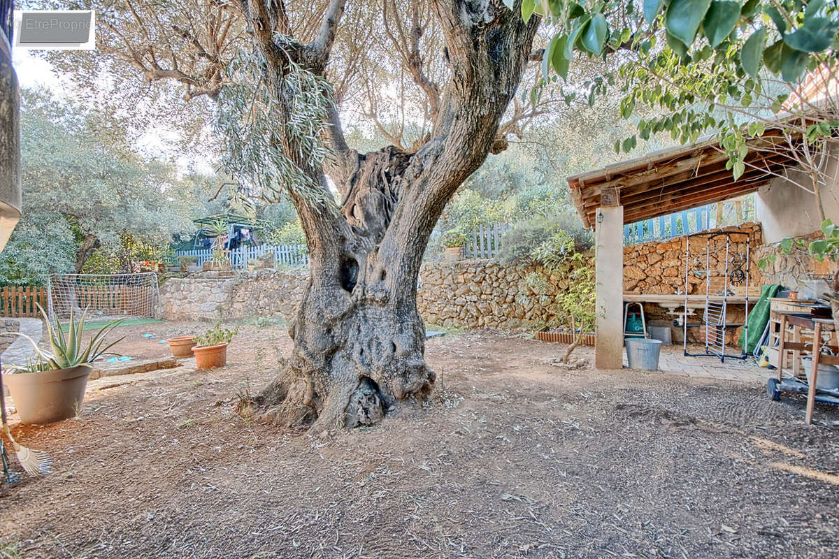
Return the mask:
<path id="1" fill-rule="evenodd" d="M 772 127 L 746 140 L 745 170 L 734 179 L 719 143 L 706 139 L 667 148 L 568 178 L 583 223 L 596 231 L 595 365 L 623 364 L 623 225 L 755 192 L 795 167 L 795 137 Z"/>

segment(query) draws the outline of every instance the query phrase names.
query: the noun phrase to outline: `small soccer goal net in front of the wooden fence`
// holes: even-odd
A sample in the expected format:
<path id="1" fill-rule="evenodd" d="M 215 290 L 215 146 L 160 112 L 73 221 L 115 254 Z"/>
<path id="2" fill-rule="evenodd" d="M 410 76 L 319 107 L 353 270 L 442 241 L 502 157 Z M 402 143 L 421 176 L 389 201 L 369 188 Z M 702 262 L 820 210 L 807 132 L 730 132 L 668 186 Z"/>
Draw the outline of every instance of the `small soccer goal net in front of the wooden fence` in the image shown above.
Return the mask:
<path id="1" fill-rule="evenodd" d="M 160 318 L 157 274 L 52 274 L 47 282 L 50 320 L 88 318 Z"/>

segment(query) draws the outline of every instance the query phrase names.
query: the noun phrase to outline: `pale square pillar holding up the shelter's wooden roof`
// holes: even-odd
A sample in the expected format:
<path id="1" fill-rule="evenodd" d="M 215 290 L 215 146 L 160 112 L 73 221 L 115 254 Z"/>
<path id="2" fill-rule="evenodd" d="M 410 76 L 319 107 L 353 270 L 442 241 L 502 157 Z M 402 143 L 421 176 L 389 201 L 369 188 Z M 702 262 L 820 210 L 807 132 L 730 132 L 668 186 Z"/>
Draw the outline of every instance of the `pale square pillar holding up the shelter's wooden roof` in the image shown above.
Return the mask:
<path id="1" fill-rule="evenodd" d="M 597 208 L 596 215 L 594 363 L 598 369 L 620 369 L 623 366 L 623 206 L 602 206 Z"/>

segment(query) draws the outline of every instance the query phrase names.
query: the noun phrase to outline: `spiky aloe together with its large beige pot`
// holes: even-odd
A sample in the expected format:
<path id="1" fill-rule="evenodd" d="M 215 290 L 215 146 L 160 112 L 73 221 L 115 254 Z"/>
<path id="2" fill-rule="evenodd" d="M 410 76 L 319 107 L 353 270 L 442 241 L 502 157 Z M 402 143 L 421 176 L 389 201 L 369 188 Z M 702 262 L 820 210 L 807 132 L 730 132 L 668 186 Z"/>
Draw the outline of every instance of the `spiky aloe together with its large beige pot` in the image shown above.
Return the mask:
<path id="1" fill-rule="evenodd" d="M 76 323 L 70 310 L 70 324 L 67 334 L 61 329 L 58 318 L 51 324 L 44 309 L 38 307 L 44 322 L 47 324 L 47 336 L 50 340 L 50 350 L 41 349 L 34 339 L 26 334 L 18 334 L 32 344 L 36 357 L 11 375 L 5 377 L 6 386 L 18 408 L 20 421 L 26 424 L 44 424 L 59 422 L 68 417 L 76 417 L 85 398 L 87 377 L 91 373 L 91 363 L 102 355 L 116 355 L 108 353 L 113 345 L 118 344 L 124 336 L 111 344 L 105 344 L 105 336 L 117 323 L 119 318 L 107 323 L 96 334 L 91 336 L 87 344 L 82 342 L 85 329 L 85 316 L 81 314 Z M 104 347 L 102 347 L 104 345 Z"/>

